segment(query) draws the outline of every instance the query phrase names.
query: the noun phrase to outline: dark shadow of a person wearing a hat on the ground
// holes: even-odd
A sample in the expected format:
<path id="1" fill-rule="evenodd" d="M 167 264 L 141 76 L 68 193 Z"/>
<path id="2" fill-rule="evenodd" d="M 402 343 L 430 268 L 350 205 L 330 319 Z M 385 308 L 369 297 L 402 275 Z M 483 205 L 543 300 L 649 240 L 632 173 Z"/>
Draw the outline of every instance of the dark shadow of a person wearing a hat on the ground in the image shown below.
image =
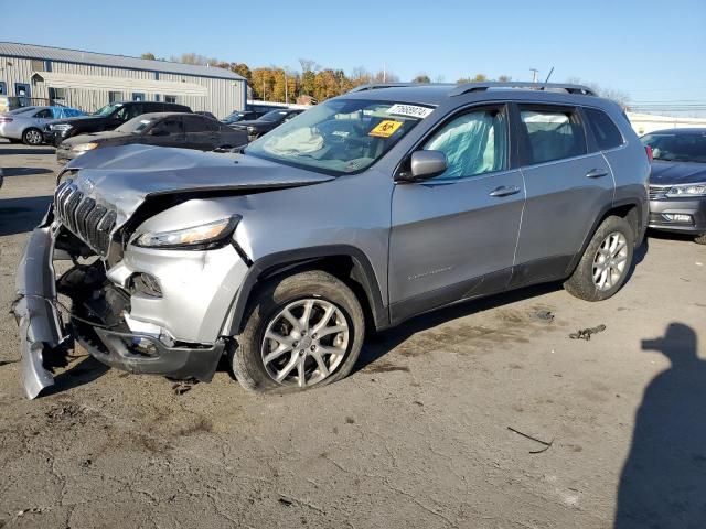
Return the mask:
<path id="1" fill-rule="evenodd" d="M 706 527 L 706 360 L 682 323 L 645 339 L 672 363 L 648 386 L 618 489 L 614 529 Z"/>

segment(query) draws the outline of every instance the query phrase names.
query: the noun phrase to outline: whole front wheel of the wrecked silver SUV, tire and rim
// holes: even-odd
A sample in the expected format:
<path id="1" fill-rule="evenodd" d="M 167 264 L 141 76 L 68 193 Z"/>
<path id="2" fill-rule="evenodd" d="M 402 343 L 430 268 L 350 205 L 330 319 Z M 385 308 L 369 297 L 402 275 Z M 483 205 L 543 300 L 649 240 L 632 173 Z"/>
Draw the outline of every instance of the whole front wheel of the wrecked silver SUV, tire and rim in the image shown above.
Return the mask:
<path id="1" fill-rule="evenodd" d="M 297 273 L 256 293 L 229 365 L 252 391 L 323 386 L 353 369 L 364 322 L 361 304 L 345 283 L 319 270 Z"/>

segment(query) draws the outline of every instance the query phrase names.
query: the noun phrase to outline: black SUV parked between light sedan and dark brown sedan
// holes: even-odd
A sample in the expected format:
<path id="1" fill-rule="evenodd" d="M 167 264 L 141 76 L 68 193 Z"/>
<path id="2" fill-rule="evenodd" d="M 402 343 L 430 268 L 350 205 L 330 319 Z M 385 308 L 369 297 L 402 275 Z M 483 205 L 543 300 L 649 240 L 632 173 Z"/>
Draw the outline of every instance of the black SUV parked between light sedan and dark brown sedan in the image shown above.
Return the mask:
<path id="1" fill-rule="evenodd" d="M 86 132 L 115 130 L 126 121 L 149 112 L 191 112 L 191 108 L 175 102 L 124 101 L 111 102 L 90 116 L 54 121 L 44 127 L 47 143 L 58 145 L 66 138 Z"/>

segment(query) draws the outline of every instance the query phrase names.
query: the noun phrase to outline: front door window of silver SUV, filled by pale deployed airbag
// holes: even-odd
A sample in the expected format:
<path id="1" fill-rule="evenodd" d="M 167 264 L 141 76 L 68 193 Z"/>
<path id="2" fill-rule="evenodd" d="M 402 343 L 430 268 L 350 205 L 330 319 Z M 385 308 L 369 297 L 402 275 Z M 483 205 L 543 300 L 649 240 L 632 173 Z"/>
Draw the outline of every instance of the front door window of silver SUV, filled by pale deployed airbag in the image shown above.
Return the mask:
<path id="1" fill-rule="evenodd" d="M 498 108 L 473 110 L 442 126 L 424 144 L 446 154 L 448 168 L 437 179 L 462 179 L 502 171 L 507 161 L 507 119 Z"/>

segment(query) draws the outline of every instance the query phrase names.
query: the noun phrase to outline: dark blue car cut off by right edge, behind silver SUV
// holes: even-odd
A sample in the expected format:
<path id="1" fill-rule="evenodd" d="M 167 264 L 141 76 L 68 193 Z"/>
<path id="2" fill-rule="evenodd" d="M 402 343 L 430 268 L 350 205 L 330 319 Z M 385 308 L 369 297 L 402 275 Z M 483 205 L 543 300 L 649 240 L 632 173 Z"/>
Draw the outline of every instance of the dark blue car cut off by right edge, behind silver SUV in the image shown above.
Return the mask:
<path id="1" fill-rule="evenodd" d="M 657 130 L 641 139 L 654 159 L 650 227 L 706 245 L 706 129 Z"/>

